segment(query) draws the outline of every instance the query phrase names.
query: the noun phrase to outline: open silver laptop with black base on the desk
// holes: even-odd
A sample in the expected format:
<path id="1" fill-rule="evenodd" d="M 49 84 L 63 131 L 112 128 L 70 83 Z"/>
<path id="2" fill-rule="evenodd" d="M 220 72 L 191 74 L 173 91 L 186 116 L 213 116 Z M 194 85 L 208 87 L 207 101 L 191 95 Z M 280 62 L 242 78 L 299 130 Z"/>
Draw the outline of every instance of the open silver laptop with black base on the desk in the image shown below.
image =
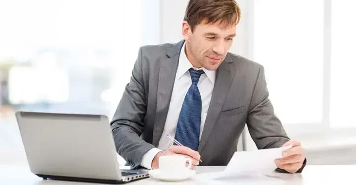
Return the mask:
<path id="1" fill-rule="evenodd" d="M 149 177 L 148 170 L 119 168 L 105 115 L 15 112 L 30 170 L 43 178 L 124 184 Z"/>

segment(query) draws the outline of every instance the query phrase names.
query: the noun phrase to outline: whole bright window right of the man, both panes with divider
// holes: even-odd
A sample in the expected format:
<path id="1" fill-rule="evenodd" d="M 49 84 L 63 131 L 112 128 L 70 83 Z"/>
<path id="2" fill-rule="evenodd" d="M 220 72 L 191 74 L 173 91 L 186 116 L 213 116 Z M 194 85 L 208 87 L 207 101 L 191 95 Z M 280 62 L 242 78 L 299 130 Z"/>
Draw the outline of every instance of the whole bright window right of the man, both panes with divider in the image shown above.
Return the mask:
<path id="1" fill-rule="evenodd" d="M 286 130 L 292 135 L 351 133 L 356 127 L 350 118 L 356 104 L 356 24 L 351 19 L 356 2 L 248 4 L 249 58 L 265 66 L 270 100 Z"/>

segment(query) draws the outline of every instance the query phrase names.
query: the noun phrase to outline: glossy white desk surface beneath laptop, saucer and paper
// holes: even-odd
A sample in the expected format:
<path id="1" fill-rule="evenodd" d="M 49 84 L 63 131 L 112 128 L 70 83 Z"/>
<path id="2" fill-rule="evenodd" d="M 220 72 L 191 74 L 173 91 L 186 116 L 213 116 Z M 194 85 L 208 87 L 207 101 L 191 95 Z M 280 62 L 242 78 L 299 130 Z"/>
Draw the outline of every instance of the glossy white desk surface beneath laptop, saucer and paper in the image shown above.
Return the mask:
<path id="1" fill-rule="evenodd" d="M 221 166 L 198 166 L 197 173 L 222 171 Z M 306 166 L 302 174 L 271 173 L 274 178 L 282 180 L 282 185 L 329 185 L 356 184 L 356 165 L 350 166 Z M 189 179 L 182 182 L 162 182 L 153 178 L 131 182 L 128 185 L 202 185 L 205 183 Z M 261 184 L 261 183 L 259 183 Z M 262 184 L 268 184 L 262 183 Z M 14 165 L 0 165 L 0 185 L 98 185 L 91 183 L 77 183 L 67 181 L 43 180 L 33 175 L 27 167 Z"/>

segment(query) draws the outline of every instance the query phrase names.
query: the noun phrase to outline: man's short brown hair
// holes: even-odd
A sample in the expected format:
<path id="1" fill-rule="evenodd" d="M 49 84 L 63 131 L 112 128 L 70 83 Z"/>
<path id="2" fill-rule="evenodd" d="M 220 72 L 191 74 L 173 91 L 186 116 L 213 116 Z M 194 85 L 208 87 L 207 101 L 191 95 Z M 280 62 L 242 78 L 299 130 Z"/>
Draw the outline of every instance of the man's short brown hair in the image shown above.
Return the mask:
<path id="1" fill-rule="evenodd" d="M 241 10 L 235 0 L 189 0 L 185 10 L 184 21 L 194 31 L 196 25 L 204 21 L 214 24 L 219 21 L 223 27 L 238 24 Z"/>

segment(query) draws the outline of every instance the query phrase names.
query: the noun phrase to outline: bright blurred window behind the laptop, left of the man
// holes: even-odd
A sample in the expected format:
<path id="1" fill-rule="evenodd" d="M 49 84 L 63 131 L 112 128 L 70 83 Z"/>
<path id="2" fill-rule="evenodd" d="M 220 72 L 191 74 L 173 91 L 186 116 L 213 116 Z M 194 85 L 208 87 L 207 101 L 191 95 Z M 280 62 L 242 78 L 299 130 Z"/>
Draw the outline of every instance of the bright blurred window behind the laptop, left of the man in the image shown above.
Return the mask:
<path id="1" fill-rule="evenodd" d="M 0 2 L 0 151 L 23 147 L 16 110 L 112 117 L 144 44 L 140 2 Z"/>

